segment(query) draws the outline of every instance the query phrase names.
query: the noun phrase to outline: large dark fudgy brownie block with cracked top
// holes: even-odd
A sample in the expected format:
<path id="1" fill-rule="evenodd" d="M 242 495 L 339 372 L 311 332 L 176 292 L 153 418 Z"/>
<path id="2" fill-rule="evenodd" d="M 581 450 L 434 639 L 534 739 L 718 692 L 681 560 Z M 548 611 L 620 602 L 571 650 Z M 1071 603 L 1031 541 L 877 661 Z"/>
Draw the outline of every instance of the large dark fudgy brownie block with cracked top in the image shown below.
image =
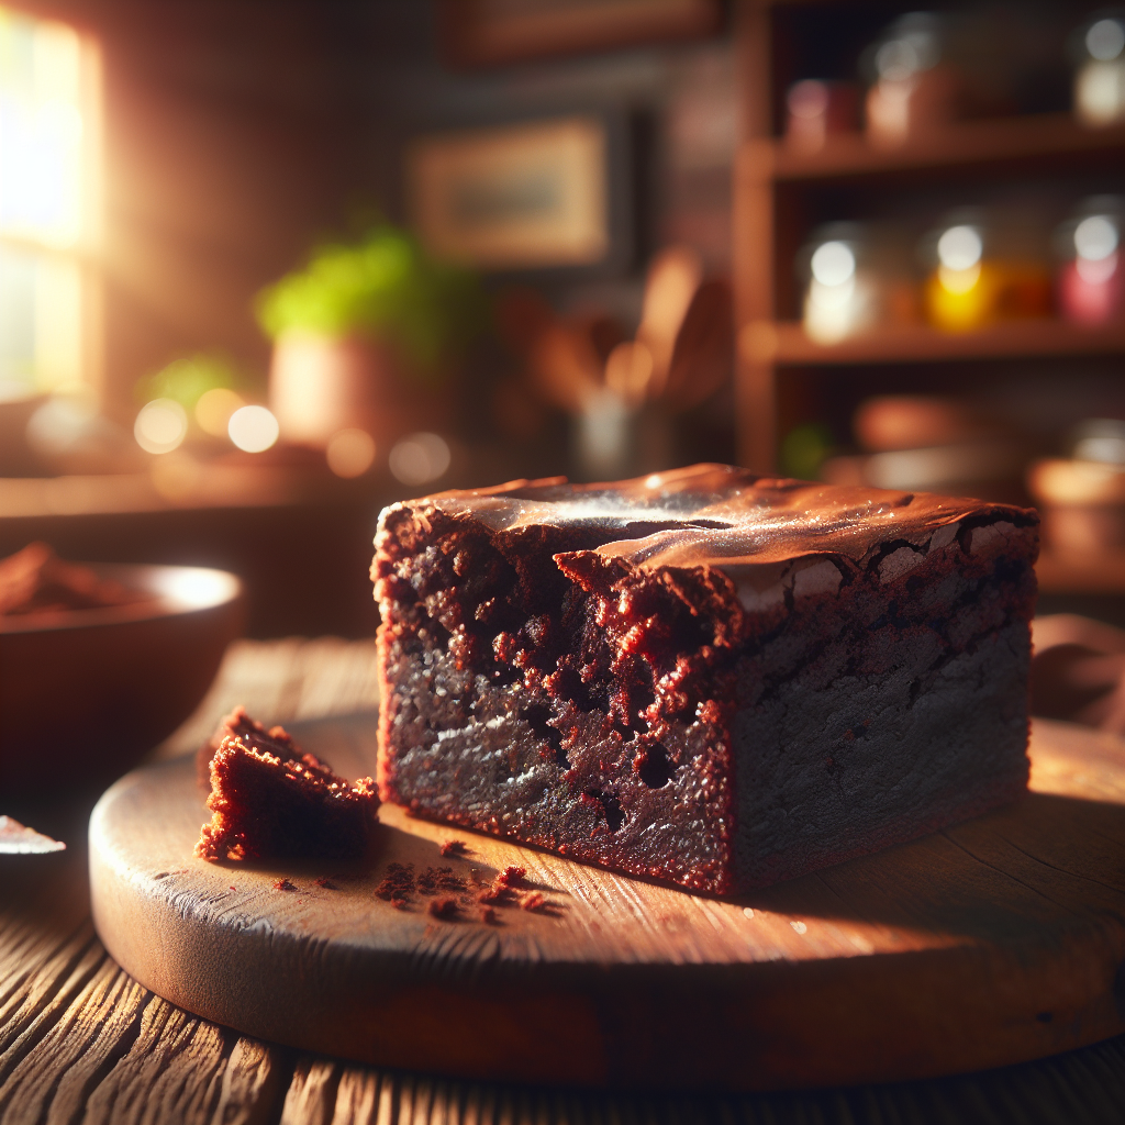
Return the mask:
<path id="1" fill-rule="evenodd" d="M 1024 791 L 1034 512 L 701 465 L 386 508 L 382 798 L 730 893 Z"/>

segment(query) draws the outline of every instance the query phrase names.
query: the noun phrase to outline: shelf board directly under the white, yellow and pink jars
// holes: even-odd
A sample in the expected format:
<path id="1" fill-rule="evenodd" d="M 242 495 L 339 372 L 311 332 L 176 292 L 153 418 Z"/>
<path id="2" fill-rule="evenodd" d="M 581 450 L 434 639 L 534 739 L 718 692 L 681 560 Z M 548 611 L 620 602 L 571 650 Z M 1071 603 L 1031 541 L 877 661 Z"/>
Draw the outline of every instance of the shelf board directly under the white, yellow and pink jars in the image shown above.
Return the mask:
<path id="1" fill-rule="evenodd" d="M 1125 324 L 1099 327 L 1065 321 L 1008 321 L 976 332 L 939 332 L 925 324 L 882 328 L 819 344 L 795 322 L 757 323 L 744 330 L 747 359 L 799 364 L 933 363 L 964 359 L 1035 359 L 1044 356 L 1119 356 Z"/>

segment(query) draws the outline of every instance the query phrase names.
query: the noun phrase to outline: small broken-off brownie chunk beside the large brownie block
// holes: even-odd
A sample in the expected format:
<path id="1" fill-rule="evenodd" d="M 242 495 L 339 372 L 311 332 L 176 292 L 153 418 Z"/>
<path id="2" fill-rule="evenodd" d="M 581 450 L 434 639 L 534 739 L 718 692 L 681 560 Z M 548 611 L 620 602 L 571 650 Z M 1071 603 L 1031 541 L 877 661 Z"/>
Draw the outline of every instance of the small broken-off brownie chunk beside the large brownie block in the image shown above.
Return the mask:
<path id="1" fill-rule="evenodd" d="M 379 807 L 375 782 L 354 785 L 315 755 L 302 754 L 280 727 L 267 730 L 236 708 L 206 745 L 212 794 L 196 855 L 205 860 L 287 856 L 350 858 L 367 847 Z"/>

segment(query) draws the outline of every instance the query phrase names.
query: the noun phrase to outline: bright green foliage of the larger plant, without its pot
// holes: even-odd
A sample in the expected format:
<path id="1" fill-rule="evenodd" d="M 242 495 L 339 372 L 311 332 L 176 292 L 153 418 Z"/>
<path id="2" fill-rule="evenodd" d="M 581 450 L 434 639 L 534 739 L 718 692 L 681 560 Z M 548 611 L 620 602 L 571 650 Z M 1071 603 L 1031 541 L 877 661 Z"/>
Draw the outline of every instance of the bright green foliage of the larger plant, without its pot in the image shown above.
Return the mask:
<path id="1" fill-rule="evenodd" d="M 267 335 L 303 330 L 387 340 L 423 375 L 456 358 L 486 322 L 476 277 L 429 258 L 406 232 L 381 225 L 352 245 L 317 248 L 256 299 Z"/>

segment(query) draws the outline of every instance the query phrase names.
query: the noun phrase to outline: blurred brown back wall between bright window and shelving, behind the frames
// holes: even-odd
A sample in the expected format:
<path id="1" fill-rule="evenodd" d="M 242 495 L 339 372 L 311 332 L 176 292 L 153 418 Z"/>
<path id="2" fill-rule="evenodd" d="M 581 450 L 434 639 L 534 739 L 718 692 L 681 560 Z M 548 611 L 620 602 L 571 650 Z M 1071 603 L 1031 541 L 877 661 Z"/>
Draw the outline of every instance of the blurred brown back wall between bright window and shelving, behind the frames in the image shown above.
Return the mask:
<path id="1" fill-rule="evenodd" d="M 564 279 L 564 305 L 638 313 L 667 241 L 729 264 L 729 37 L 457 73 L 424 0 L 9 2 L 101 44 L 105 381 L 122 421 L 137 379 L 180 354 L 225 351 L 264 377 L 253 295 L 358 209 L 400 219 L 400 152 L 420 132 L 575 107 L 640 123 L 633 260 Z"/>

